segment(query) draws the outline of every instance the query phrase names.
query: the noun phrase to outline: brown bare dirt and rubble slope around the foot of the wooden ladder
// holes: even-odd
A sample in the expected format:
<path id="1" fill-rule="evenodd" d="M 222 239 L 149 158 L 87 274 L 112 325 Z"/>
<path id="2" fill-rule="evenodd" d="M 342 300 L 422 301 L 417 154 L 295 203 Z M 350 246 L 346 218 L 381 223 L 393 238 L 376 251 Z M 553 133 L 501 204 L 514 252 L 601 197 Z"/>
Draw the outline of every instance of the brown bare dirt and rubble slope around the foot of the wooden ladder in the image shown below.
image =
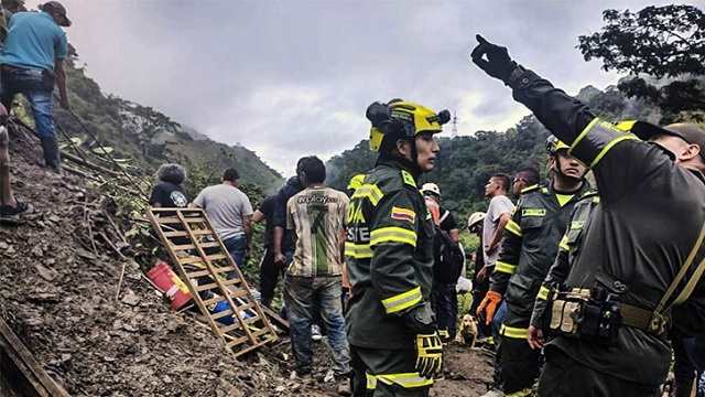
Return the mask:
<path id="1" fill-rule="evenodd" d="M 191 314 L 170 312 L 138 265 L 104 244 L 94 250 L 86 211 L 100 196 L 72 175 L 37 167 L 39 147 L 11 143 L 13 187 L 34 212 L 0 226 L 0 315 L 72 395 L 328 396 L 333 385 L 290 380 L 286 339 L 241 361 Z M 86 203 L 88 203 L 86 205 Z M 116 299 L 124 266 L 124 281 Z M 321 374 L 325 350 L 316 350 Z M 488 358 L 452 347 L 434 396 L 475 396 Z"/>

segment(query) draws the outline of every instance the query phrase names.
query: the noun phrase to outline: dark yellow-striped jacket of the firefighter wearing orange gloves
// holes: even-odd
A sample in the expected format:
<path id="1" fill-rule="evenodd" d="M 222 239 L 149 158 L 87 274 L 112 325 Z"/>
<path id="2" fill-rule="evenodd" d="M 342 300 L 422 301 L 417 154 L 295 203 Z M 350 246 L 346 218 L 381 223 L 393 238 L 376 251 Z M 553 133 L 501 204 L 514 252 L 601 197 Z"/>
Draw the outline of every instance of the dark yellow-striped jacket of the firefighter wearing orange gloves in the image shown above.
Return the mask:
<path id="1" fill-rule="evenodd" d="M 495 262 L 490 286 L 507 301 L 501 335 L 527 339 L 533 301 L 558 250 L 571 211 L 588 189 L 584 182 L 563 205 L 551 184 L 522 191 L 505 228 L 509 233 Z"/>

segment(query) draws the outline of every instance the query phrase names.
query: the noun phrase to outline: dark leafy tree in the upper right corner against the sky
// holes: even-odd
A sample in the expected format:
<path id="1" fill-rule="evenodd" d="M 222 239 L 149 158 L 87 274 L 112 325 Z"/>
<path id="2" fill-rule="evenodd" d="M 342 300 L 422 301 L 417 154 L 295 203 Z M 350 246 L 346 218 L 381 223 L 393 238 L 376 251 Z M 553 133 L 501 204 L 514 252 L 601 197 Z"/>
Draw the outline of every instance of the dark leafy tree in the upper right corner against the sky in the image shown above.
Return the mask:
<path id="1" fill-rule="evenodd" d="M 693 6 L 606 10 L 600 32 L 578 37 L 585 61 L 627 72 L 618 88 L 663 110 L 662 121 L 705 109 L 705 14 Z M 639 75 L 647 75 L 646 78 Z M 702 114 L 691 117 L 703 118 Z"/>

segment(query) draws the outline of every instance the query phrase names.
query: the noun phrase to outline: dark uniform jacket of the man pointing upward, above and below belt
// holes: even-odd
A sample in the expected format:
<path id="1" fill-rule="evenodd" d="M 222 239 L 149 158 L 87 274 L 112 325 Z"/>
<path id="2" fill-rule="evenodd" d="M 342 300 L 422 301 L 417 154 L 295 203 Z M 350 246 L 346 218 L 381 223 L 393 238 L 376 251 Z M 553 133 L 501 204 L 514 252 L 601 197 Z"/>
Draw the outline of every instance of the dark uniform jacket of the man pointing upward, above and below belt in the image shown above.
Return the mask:
<path id="1" fill-rule="evenodd" d="M 531 71 L 517 67 L 508 82 L 517 100 L 595 173 L 600 204 L 565 280 L 568 288 L 597 286 L 597 276 L 627 286 L 622 301 L 653 310 L 694 251 L 693 269 L 705 258 L 697 243 L 705 223 L 705 178 L 674 163 L 655 143 L 642 142 L 593 115 L 587 106 Z M 679 287 L 682 289 L 682 286 Z M 705 332 L 705 282 L 673 310 L 673 326 Z M 616 344 L 596 345 L 558 336 L 560 348 L 598 372 L 647 385 L 665 379 L 671 348 L 665 336 L 621 326 Z"/>

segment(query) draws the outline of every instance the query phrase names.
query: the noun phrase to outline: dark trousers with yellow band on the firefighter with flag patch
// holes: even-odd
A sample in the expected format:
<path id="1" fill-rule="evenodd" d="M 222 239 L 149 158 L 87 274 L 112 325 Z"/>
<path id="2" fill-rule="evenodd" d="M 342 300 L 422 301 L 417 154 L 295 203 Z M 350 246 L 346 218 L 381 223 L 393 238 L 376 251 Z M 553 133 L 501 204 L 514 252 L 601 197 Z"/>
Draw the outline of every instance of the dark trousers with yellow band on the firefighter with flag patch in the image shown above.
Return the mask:
<path id="1" fill-rule="evenodd" d="M 352 396 L 427 397 L 432 379 L 419 376 L 416 351 L 365 348 L 350 345 Z"/>

